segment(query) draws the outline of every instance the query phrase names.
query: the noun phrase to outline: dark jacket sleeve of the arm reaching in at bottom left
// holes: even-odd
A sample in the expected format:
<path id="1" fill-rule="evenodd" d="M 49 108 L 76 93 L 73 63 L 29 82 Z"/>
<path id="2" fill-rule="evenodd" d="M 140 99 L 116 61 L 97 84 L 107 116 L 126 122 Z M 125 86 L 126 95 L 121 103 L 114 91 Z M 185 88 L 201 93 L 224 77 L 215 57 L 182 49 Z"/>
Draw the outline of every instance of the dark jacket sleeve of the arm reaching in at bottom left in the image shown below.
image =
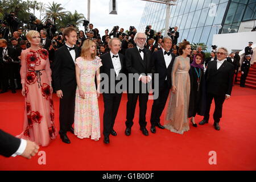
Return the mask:
<path id="1" fill-rule="evenodd" d="M 10 157 L 19 148 L 21 140 L 0 130 L 0 155 Z"/>

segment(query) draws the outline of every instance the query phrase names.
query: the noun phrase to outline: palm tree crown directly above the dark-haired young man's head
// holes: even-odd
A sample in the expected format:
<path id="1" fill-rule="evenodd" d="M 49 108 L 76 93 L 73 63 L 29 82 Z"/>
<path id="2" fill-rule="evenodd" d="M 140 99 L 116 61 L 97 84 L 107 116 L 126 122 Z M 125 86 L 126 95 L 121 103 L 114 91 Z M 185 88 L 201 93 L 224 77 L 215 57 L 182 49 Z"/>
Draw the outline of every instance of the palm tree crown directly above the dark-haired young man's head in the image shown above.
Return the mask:
<path id="1" fill-rule="evenodd" d="M 65 27 L 67 24 L 74 24 L 75 27 L 79 27 L 79 24 L 83 22 L 85 19 L 84 15 L 81 13 L 77 13 L 75 10 L 75 13 L 72 14 L 70 11 L 68 11 L 61 20 L 58 21 L 57 24 L 59 24 L 60 27 Z"/>

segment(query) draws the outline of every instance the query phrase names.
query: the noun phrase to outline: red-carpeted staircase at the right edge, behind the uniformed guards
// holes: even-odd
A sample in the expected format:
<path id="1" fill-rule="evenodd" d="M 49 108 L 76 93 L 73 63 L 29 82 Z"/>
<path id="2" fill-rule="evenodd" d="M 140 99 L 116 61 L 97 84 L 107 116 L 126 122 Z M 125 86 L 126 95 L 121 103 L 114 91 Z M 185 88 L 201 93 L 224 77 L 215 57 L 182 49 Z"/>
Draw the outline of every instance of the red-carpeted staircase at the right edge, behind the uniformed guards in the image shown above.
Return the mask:
<path id="1" fill-rule="evenodd" d="M 241 71 L 238 72 L 237 75 L 237 85 L 240 85 Z M 249 69 L 248 76 L 245 81 L 245 86 L 247 88 L 256 89 L 256 63 L 251 64 Z"/>

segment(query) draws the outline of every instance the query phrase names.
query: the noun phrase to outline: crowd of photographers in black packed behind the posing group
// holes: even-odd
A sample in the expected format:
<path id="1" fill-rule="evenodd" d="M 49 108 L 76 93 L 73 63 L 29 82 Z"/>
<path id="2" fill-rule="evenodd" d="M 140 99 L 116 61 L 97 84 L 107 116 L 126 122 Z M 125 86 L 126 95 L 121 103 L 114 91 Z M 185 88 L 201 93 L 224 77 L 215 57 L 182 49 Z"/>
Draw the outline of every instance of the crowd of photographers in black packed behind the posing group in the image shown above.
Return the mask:
<path id="1" fill-rule="evenodd" d="M 34 15 L 30 15 L 29 23 L 27 24 L 26 30 L 19 28 L 19 19 L 16 17 L 14 12 L 7 14 L 5 18 L 0 22 L 2 27 L 0 29 L 0 82 L 1 89 L 0 93 L 7 92 L 11 89 L 12 93 L 16 93 L 15 89 L 22 88 L 20 84 L 20 53 L 23 49 L 30 47 L 26 39 L 26 32 L 28 30 L 36 30 L 40 32 L 41 36 L 41 46 L 49 52 L 49 60 L 52 63 L 54 60 L 55 51 L 64 45 L 63 30 L 64 27 L 60 27 L 59 31 L 56 25 L 47 19 L 44 24 L 36 19 Z M 88 26 L 89 25 L 89 26 Z M 75 27 L 72 24 L 68 24 L 66 27 Z M 132 48 L 135 46 L 134 36 L 137 33 L 135 27 L 130 26 L 129 31 L 125 32 L 123 28 L 119 26 L 114 26 L 109 32 L 108 29 L 105 30 L 105 35 L 101 36 L 97 28 L 93 27 L 93 24 L 88 20 L 84 20 L 83 26 L 85 31 L 77 31 L 77 47 L 81 47 L 82 43 L 86 39 L 92 39 L 97 45 L 97 55 L 101 56 L 106 52 L 109 52 L 108 42 L 111 38 L 118 38 L 121 40 L 121 50 L 120 53 L 125 55 L 127 48 Z M 170 27 L 167 35 L 172 39 L 171 52 L 175 55 L 179 55 L 179 46 L 177 44 L 177 39 L 179 38 L 178 27 Z M 144 46 L 150 51 L 158 51 L 162 49 L 162 32 L 155 32 L 149 25 L 146 27 L 145 34 L 147 36 L 147 42 Z M 183 41 L 186 41 L 185 39 Z M 212 46 L 213 53 L 208 59 L 214 59 L 216 57 L 215 50 L 217 46 Z M 199 46 L 196 50 L 192 50 L 190 55 L 191 61 L 193 60 L 193 55 L 200 52 L 205 56 L 202 48 Z M 206 66 L 208 60 L 204 57 L 204 65 Z"/>

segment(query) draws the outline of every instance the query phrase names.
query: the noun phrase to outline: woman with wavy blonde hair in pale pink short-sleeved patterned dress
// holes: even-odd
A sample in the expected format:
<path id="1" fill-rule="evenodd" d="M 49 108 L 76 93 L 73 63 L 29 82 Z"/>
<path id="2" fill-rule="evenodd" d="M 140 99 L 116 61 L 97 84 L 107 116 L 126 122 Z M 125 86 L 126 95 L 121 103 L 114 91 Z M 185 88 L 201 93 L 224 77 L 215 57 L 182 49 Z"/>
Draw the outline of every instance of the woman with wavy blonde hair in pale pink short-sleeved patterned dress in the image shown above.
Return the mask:
<path id="1" fill-rule="evenodd" d="M 100 114 L 98 98 L 100 96 L 101 59 L 96 56 L 96 45 L 92 40 L 85 40 L 81 57 L 76 61 L 76 102 L 74 130 L 78 138 L 98 140 L 100 135 Z M 97 77 L 97 90 L 94 82 Z"/>

